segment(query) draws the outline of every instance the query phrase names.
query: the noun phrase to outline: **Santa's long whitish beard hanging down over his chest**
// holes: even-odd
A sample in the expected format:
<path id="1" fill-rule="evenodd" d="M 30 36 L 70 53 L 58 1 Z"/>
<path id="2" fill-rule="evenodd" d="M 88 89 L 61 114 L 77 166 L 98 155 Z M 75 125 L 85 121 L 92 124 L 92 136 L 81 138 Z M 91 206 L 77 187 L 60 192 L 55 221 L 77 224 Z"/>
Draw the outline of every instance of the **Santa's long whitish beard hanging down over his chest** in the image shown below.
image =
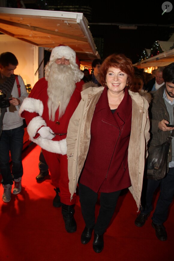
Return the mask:
<path id="1" fill-rule="evenodd" d="M 53 63 L 48 77 L 48 110 L 49 119 L 55 120 L 55 112 L 59 108 L 60 118 L 76 88 L 74 72 L 70 65 Z"/>

